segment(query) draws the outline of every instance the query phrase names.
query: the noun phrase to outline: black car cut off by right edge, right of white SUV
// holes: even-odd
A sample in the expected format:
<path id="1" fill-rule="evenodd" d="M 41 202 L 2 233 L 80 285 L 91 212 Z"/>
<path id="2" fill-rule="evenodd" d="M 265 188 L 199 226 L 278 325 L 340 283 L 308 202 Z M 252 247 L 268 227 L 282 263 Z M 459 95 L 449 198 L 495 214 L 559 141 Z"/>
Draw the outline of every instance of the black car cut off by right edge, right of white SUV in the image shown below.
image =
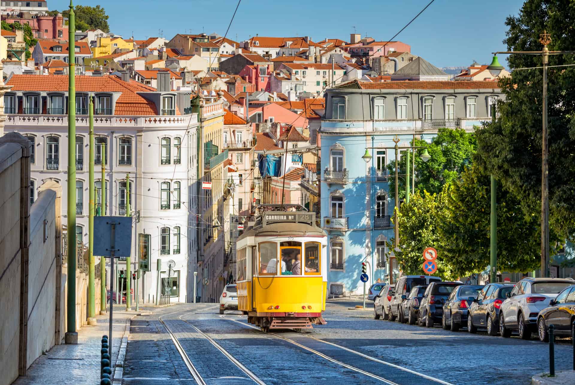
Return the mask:
<path id="1" fill-rule="evenodd" d="M 539 311 L 537 316 L 537 334 L 542 342 L 549 342 L 549 326 L 553 325 L 554 334 L 572 335 L 575 322 L 575 285 L 566 287 L 549 302 L 549 306 Z"/>

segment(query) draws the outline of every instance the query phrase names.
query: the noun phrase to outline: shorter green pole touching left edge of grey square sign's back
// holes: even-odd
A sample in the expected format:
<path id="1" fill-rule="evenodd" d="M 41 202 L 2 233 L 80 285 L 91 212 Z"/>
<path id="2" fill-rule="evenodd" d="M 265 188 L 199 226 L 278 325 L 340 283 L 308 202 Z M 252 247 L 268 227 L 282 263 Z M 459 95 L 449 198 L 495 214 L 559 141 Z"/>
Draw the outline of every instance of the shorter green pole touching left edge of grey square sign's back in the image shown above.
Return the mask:
<path id="1" fill-rule="evenodd" d="M 96 305 L 95 305 L 95 295 L 96 295 L 96 283 L 95 283 L 95 261 L 94 261 L 94 101 L 90 95 L 90 105 L 88 111 L 88 117 L 90 121 L 90 153 L 89 153 L 89 164 L 90 164 L 90 176 L 88 180 L 88 192 L 90 195 L 90 202 L 88 208 L 88 258 L 89 258 L 89 270 L 88 270 L 88 325 L 96 325 Z"/>

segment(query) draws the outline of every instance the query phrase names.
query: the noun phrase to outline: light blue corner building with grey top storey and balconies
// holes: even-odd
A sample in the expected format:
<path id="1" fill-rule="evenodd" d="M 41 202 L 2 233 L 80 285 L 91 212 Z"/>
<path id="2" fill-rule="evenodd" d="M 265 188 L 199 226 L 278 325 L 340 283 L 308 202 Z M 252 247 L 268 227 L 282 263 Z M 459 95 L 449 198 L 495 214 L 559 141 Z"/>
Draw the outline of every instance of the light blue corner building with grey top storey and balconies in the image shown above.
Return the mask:
<path id="1" fill-rule="evenodd" d="M 490 120 L 502 97 L 492 81 L 352 81 L 327 90 L 321 121 L 321 223 L 328 232 L 328 294 L 363 292 L 362 262 L 371 283 L 388 281 L 386 241 L 393 239 L 394 200 L 385 166 L 414 136 L 432 140 L 441 127 Z M 373 136 L 373 139 L 372 139 Z M 372 144 L 373 143 L 373 144 Z M 362 156 L 366 148 L 369 163 Z M 393 281 L 400 274 L 394 258 Z"/>

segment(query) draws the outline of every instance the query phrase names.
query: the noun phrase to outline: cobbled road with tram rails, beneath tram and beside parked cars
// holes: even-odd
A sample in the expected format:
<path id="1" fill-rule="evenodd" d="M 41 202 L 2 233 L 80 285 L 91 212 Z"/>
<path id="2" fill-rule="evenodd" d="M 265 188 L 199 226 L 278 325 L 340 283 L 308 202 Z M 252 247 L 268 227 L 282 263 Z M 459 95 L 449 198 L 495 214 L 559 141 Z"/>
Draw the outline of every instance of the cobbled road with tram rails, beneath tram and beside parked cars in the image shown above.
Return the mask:
<path id="1" fill-rule="evenodd" d="M 254 378 L 266 384 L 527 384 L 532 375 L 548 370 L 549 345 L 535 335 L 523 341 L 375 321 L 373 311 L 348 310 L 355 304 L 329 302 L 328 324 L 304 334 L 264 334 L 240 312 L 220 317 L 217 304 L 183 304 L 137 317 L 124 383 L 196 382 L 166 327 L 206 384 L 253 384 Z M 557 370 L 570 369 L 570 340 L 555 345 L 555 362 Z"/>

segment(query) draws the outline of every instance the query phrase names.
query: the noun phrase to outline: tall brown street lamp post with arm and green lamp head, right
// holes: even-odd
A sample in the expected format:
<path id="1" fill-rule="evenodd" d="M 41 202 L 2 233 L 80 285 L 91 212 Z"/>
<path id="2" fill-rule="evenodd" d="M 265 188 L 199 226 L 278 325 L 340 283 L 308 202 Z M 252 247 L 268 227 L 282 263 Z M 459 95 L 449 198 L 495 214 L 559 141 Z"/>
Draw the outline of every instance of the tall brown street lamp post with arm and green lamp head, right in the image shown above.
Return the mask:
<path id="1" fill-rule="evenodd" d="M 551 35 L 543 31 L 539 35 L 539 43 L 543 44 L 541 51 L 499 51 L 493 52 L 493 60 L 487 67 L 494 77 L 501 73 L 503 66 L 497 60 L 497 54 L 541 55 L 543 61 L 543 129 L 541 154 L 541 276 L 547 277 L 547 261 L 549 261 L 549 144 L 547 141 L 547 64 L 549 55 L 575 54 L 575 51 L 549 51 Z"/>

